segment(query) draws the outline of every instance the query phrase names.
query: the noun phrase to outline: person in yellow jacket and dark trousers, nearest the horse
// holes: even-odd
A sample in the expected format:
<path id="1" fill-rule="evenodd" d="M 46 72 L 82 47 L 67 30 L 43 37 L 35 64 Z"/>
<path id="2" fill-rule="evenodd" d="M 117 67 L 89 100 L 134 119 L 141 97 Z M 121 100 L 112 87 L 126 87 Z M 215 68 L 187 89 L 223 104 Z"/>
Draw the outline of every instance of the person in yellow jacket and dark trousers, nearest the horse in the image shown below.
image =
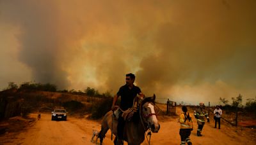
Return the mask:
<path id="1" fill-rule="evenodd" d="M 186 106 L 182 107 L 183 113 L 180 114 L 179 123 L 180 123 L 180 139 L 181 145 L 191 145 L 192 142 L 189 139 L 189 135 L 191 134 L 191 130 L 193 130 L 193 121 L 191 115 L 188 113 L 188 109 Z"/>

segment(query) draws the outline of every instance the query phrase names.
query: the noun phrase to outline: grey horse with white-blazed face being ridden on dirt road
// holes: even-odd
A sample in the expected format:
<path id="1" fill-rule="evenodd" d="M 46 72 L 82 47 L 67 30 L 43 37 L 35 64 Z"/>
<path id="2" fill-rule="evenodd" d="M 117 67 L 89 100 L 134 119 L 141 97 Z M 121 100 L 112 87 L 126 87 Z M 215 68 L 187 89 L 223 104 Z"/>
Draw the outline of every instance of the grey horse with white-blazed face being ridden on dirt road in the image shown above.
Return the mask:
<path id="1" fill-rule="evenodd" d="M 160 125 L 154 111 L 155 100 L 155 94 L 153 97 L 145 97 L 145 99 L 141 100 L 140 106 L 132 116 L 131 120 L 125 121 L 124 141 L 128 142 L 129 145 L 141 144 L 145 140 L 145 132 L 147 132 L 148 129 L 154 133 L 159 131 Z M 101 130 L 99 133 L 100 144 L 102 144 L 105 134 L 109 129 L 112 134 L 115 135 L 114 144 L 117 144 L 117 123 L 118 120 L 116 119 L 113 111 L 109 111 L 105 114 L 102 119 Z"/>

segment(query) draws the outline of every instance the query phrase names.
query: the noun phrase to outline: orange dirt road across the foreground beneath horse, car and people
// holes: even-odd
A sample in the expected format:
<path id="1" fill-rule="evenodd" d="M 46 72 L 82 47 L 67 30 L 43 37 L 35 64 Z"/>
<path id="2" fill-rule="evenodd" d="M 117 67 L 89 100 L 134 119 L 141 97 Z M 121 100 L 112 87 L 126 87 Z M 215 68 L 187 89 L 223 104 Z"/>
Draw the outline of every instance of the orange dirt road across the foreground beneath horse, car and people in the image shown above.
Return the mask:
<path id="1" fill-rule="evenodd" d="M 36 118 L 36 114 L 31 114 Z M 159 133 L 152 134 L 150 144 L 180 144 L 179 123 L 177 118 L 159 118 L 161 128 Z M 196 136 L 196 121 L 194 130 L 191 133 L 193 144 L 255 144 L 252 137 L 244 135 L 244 131 L 237 132 L 237 128 L 222 125 L 221 130 L 213 128 L 214 124 L 206 124 L 202 137 Z M 51 114 L 42 114 L 41 120 L 36 121 L 33 127 L 22 132 L 12 141 L 6 144 L 93 144 L 92 130 L 100 130 L 100 123 L 86 119 L 72 118 L 68 116 L 67 121 L 51 121 Z M 248 128 L 249 129 L 249 128 Z M 106 134 L 104 144 L 113 144 L 110 131 Z M 99 140 L 98 140 L 99 144 Z M 127 144 L 127 143 L 125 143 Z M 143 145 L 148 144 L 145 140 Z"/>

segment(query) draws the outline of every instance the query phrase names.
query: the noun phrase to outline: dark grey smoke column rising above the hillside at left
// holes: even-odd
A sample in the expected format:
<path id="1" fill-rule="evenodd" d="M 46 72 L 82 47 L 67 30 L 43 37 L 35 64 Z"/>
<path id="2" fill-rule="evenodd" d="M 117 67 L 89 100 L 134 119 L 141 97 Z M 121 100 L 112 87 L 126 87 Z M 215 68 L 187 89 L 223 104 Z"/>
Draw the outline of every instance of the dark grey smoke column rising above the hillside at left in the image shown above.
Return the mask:
<path id="1" fill-rule="evenodd" d="M 67 72 L 61 66 L 60 53 L 73 38 L 66 39 L 68 32 L 59 20 L 58 6 L 44 1 L 3 1 L 1 4 L 5 23 L 19 27 L 19 60 L 31 68 L 31 79 L 67 87 Z"/>

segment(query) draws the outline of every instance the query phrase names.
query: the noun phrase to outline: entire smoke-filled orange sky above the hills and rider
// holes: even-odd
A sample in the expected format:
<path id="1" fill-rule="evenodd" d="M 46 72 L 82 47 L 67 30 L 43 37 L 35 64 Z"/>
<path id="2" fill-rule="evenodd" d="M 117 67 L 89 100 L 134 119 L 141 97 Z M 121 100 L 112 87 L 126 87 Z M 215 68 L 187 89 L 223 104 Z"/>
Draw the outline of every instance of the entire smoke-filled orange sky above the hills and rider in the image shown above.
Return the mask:
<path id="1" fill-rule="evenodd" d="M 256 1 L 0 1 L 8 82 L 116 93 L 125 74 L 187 104 L 256 96 Z"/>

